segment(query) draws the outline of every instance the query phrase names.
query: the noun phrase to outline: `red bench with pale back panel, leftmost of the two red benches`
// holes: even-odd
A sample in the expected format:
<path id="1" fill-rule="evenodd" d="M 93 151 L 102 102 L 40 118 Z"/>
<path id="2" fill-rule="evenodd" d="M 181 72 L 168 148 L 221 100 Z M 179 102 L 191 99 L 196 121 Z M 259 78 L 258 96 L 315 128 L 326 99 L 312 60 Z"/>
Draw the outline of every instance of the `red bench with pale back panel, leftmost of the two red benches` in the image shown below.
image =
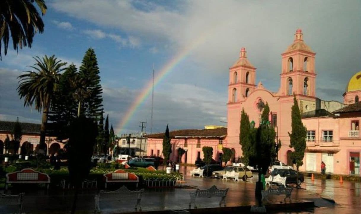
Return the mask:
<path id="1" fill-rule="evenodd" d="M 45 183 L 49 189 L 50 177 L 33 169 L 22 169 L 6 174 L 5 190 L 8 190 L 9 183 Z"/>

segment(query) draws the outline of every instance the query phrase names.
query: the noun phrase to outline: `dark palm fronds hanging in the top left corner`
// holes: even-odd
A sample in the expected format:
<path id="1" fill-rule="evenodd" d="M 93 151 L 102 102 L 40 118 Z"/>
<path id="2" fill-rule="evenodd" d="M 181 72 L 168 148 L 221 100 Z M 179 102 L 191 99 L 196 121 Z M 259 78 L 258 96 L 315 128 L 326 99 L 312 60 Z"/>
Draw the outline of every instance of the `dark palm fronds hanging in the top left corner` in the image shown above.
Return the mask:
<path id="1" fill-rule="evenodd" d="M 1 40 L 4 43 L 4 53 L 8 52 L 9 35 L 13 40 L 14 50 L 23 46 L 31 48 L 32 38 L 35 33 L 43 33 L 44 23 L 34 1 L 40 8 L 42 15 L 47 6 L 44 0 L 1 0 L 0 1 L 0 60 Z"/>

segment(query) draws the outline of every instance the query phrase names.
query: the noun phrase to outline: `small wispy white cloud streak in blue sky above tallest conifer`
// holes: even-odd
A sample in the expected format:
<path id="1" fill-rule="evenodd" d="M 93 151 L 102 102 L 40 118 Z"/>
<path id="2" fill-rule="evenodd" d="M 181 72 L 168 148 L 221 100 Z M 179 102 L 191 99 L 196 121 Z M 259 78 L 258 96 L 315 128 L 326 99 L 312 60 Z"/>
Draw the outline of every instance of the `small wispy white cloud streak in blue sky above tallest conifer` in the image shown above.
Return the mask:
<path id="1" fill-rule="evenodd" d="M 140 40 L 134 36 L 129 36 L 127 39 L 122 38 L 117 34 L 108 34 L 102 30 L 84 30 L 84 34 L 90 36 L 92 39 L 109 38 L 116 43 L 121 44 L 122 47 L 137 48 L 140 46 Z"/>

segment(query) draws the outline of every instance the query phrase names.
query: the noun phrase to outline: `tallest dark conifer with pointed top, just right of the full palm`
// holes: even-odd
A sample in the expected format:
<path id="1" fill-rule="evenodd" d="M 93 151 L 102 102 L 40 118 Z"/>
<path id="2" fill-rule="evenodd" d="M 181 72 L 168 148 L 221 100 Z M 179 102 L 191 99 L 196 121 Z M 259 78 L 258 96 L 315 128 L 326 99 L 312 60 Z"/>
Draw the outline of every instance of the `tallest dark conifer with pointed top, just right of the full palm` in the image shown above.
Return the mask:
<path id="1" fill-rule="evenodd" d="M 95 51 L 89 48 L 84 55 L 82 65 L 79 68 L 79 75 L 85 81 L 86 89 L 90 90 L 90 95 L 84 99 L 82 112 L 87 117 L 96 119 L 97 116 L 103 113 L 103 98 L 101 94 L 103 89 L 100 85 L 99 67 Z"/>

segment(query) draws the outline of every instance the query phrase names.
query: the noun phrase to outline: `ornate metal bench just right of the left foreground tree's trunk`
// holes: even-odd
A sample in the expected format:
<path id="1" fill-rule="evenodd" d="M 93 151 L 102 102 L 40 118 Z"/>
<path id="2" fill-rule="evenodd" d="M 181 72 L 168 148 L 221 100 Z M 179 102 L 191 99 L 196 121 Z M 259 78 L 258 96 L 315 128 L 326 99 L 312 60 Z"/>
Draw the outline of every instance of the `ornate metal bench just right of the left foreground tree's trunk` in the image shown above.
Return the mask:
<path id="1" fill-rule="evenodd" d="M 101 201 L 124 201 L 130 199 L 136 199 L 135 211 L 142 211 L 142 206 L 140 205 L 140 200 L 142 200 L 142 193 L 144 189 L 139 191 L 128 190 L 125 186 L 122 186 L 116 191 L 104 191 L 100 190 L 99 194 L 95 196 L 95 210 L 100 211 L 100 202 Z"/>

